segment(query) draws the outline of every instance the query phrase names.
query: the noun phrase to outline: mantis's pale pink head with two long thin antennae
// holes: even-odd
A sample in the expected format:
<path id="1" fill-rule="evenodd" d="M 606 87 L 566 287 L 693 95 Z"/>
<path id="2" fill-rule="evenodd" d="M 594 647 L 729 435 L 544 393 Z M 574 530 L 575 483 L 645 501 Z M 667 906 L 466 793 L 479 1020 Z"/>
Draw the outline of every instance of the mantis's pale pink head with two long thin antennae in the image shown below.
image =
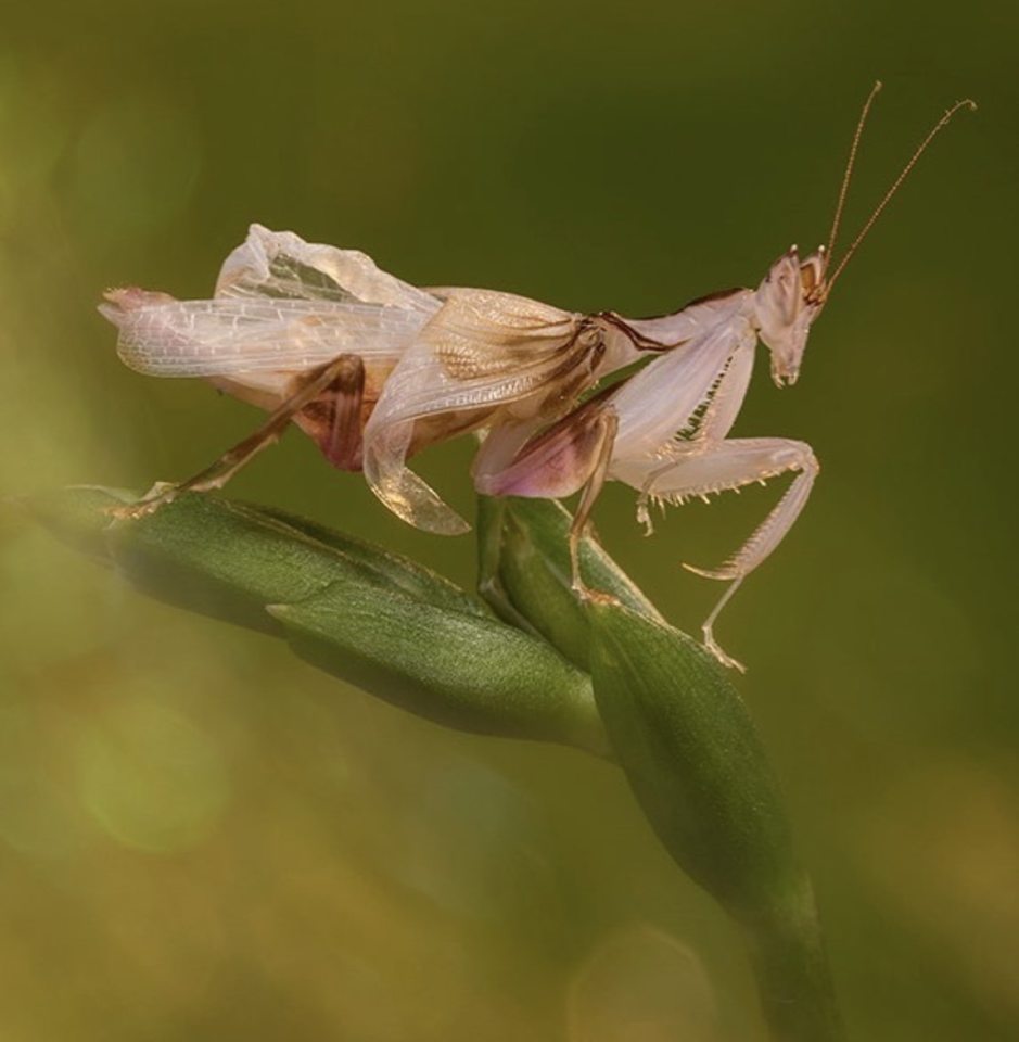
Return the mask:
<path id="1" fill-rule="evenodd" d="M 856 162 L 856 150 L 859 145 L 859 138 L 863 134 L 870 105 L 880 89 L 880 82 L 874 85 L 864 104 L 863 112 L 859 114 L 859 122 L 856 125 L 856 132 L 853 136 L 853 144 L 850 150 L 849 162 L 845 166 L 845 174 L 842 177 L 842 188 L 839 191 L 839 200 L 836 204 L 831 231 L 828 236 L 828 245 L 818 246 L 817 251 L 804 260 L 800 259 L 797 247 L 791 246 L 787 253 L 784 253 L 775 264 L 772 265 L 772 269 L 767 276 L 765 276 L 764 281 L 754 294 L 754 317 L 757 332 L 761 340 L 772 352 L 772 379 L 778 386 L 782 386 L 784 384 L 791 385 L 797 382 L 797 377 L 800 374 L 800 364 L 803 359 L 803 351 L 806 347 L 806 338 L 811 331 L 814 319 L 820 314 L 820 309 L 824 307 L 832 285 L 835 285 L 836 280 L 842 271 L 845 270 L 845 265 L 867 237 L 875 221 L 881 216 L 884 207 L 891 202 L 892 196 L 899 191 L 899 187 L 906 179 L 906 176 L 913 169 L 917 160 L 922 155 L 934 137 L 948 124 L 956 112 L 960 109 L 972 110 L 977 107 L 977 105 L 967 98 L 965 101 L 956 102 L 941 119 L 934 124 L 927 137 L 920 142 L 919 148 L 913 153 L 909 162 L 903 167 L 902 173 L 892 182 L 891 188 L 884 193 L 881 202 L 878 203 L 874 213 L 864 224 L 863 230 L 853 240 L 835 271 L 829 277 L 829 258 L 832 255 L 836 239 L 838 238 L 842 209 L 845 204 L 853 166 Z"/>

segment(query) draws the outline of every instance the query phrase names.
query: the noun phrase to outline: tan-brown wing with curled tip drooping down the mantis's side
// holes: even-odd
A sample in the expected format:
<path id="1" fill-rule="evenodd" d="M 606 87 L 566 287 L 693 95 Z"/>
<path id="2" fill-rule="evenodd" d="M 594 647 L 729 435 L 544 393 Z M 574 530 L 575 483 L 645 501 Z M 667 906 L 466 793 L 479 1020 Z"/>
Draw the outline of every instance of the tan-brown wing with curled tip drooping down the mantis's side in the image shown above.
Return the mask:
<path id="1" fill-rule="evenodd" d="M 365 476 L 405 521 L 454 534 L 467 524 L 406 466 L 411 448 L 485 422 L 504 407 L 522 418 L 578 393 L 594 381 L 601 333 L 578 315 L 512 294 L 445 292 L 445 304 L 390 374 L 368 421 Z"/>

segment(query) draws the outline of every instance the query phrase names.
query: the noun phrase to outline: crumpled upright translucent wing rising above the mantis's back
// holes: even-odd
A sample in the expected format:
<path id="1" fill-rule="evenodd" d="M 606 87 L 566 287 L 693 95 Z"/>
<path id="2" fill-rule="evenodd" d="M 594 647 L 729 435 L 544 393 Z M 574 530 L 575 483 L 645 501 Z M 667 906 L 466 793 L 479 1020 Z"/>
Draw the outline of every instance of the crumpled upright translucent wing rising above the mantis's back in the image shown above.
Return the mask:
<path id="1" fill-rule="evenodd" d="M 382 271 L 358 250 L 305 242 L 262 225 L 252 225 L 246 241 L 224 262 L 216 296 L 360 302 L 424 315 L 440 307 L 434 296 Z"/>

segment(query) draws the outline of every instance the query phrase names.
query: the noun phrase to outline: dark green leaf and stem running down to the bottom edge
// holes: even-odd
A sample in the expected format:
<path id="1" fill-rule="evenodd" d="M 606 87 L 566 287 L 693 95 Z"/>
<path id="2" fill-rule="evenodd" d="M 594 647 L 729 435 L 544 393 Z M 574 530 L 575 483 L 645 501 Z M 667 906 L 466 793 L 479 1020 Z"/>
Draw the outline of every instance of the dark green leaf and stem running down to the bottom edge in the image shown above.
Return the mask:
<path id="1" fill-rule="evenodd" d="M 589 614 L 616 758 L 676 863 L 747 931 L 773 1037 L 840 1038 L 810 880 L 746 706 L 685 634 L 620 605 Z"/>

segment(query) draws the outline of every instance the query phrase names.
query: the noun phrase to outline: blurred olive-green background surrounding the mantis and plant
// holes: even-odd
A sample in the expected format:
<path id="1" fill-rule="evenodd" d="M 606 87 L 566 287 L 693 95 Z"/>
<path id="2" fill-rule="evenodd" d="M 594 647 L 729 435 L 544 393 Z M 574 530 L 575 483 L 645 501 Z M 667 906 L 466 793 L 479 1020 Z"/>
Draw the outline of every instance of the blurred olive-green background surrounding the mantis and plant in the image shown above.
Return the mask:
<path id="1" fill-rule="evenodd" d="M 657 314 L 851 231 L 951 102 L 794 390 L 824 472 L 719 638 L 782 778 L 850 1035 L 1016 1038 L 1019 8 L 21 4 L 0 40 L 0 493 L 183 478 L 256 415 L 124 369 L 107 285 L 211 291 L 252 220 L 421 284 Z M 470 510 L 470 443 L 421 468 Z M 759 494 L 760 492 L 760 494 Z M 775 490 L 603 542 L 697 631 Z M 473 573 L 296 434 L 232 486 Z M 731 501 L 729 501 L 731 500 Z M 743 1042 L 739 941 L 621 775 L 444 732 L 0 522 L 0 1034 Z"/>

